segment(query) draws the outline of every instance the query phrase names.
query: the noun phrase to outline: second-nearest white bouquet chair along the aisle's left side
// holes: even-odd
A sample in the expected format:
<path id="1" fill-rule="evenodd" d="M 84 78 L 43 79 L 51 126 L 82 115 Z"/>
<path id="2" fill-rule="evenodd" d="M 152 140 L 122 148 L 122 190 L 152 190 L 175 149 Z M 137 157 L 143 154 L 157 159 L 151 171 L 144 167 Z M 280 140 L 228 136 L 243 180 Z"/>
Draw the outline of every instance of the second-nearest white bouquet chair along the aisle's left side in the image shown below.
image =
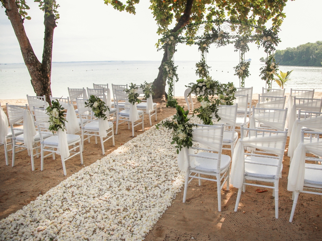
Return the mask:
<path id="1" fill-rule="evenodd" d="M 89 107 L 85 107 L 84 99 L 76 98 L 76 104 L 78 108 L 78 114 L 81 119 L 81 144 L 84 150 L 84 140 L 88 140 L 90 143 L 90 137 L 95 137 L 95 144 L 97 144 L 97 137 L 100 138 L 102 152 L 105 155 L 104 142 L 109 139 L 112 139 L 112 145 L 115 146 L 114 143 L 114 129 L 113 122 L 109 122 L 108 120 L 97 120 L 93 118 L 93 115 L 89 114 L 91 109 Z M 87 124 L 83 124 L 82 120 L 86 119 L 88 121 Z M 109 135 L 110 134 L 110 135 Z M 87 138 L 84 138 L 84 135 L 87 135 Z M 106 138 L 105 140 L 103 138 Z"/>

